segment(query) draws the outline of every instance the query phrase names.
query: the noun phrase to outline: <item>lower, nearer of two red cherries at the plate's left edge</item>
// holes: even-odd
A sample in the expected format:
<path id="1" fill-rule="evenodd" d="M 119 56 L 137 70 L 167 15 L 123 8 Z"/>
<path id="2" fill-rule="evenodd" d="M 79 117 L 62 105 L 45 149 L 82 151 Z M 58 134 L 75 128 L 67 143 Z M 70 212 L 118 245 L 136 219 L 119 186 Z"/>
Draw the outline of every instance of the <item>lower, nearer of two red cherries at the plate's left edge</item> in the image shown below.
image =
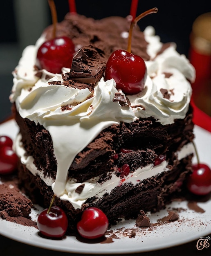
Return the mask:
<path id="1" fill-rule="evenodd" d="M 13 173 L 17 168 L 18 156 L 10 146 L 0 147 L 0 174 Z"/>

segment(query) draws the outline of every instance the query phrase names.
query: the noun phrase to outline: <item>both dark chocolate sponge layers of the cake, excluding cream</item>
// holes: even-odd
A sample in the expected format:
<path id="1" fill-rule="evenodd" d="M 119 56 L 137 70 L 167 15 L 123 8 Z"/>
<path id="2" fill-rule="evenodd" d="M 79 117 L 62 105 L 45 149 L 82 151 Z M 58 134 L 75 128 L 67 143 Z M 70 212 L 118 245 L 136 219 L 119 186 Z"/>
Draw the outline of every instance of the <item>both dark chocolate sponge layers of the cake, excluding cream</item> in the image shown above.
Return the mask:
<path id="1" fill-rule="evenodd" d="M 56 160 L 53 153 L 52 139 L 49 132 L 41 125 L 35 125 L 29 119 L 22 119 L 15 106 L 16 121 L 22 134 L 22 143 L 28 155 L 34 157 L 34 164 L 47 176 L 56 177 Z M 158 155 L 166 154 L 168 168 L 158 175 L 140 181 L 137 185 L 122 184 L 102 198 L 89 198 L 81 209 L 74 209 L 68 201 L 58 198 L 55 204 L 63 208 L 69 218 L 68 232 L 72 233 L 79 221 L 81 212 L 87 207 L 102 209 L 110 224 L 121 218 L 136 218 L 140 210 L 159 211 L 171 202 L 172 195 L 181 191 L 186 176 L 191 173 L 189 155 L 179 161 L 176 152 L 194 138 L 192 110 L 185 119 L 177 119 L 174 124 L 161 126 L 153 118 L 139 119 L 133 123 L 113 125 L 103 130 L 81 153 L 69 169 L 69 177 L 84 182 L 92 177 L 101 177 L 99 182 L 110 179 L 110 173 L 120 176 L 119 168 L 123 164 L 131 166 L 130 172 L 140 166 L 155 161 Z M 121 149 L 127 150 L 121 150 Z M 113 157 L 118 154 L 118 159 Z M 48 207 L 53 191 L 38 176 L 31 174 L 25 165 L 18 168 L 20 186 L 34 203 Z"/>

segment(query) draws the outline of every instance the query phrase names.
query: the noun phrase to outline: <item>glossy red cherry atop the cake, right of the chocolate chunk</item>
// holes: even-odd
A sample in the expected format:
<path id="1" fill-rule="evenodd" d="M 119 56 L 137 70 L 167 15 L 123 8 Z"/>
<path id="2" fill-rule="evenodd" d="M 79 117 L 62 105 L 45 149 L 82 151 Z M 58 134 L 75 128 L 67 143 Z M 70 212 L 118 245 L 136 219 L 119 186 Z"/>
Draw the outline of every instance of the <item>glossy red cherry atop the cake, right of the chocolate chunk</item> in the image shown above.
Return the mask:
<path id="1" fill-rule="evenodd" d="M 126 94 L 137 94 L 143 90 L 146 77 L 146 64 L 140 56 L 125 50 L 116 50 L 109 57 L 105 80 L 113 78 L 117 90 L 121 89 Z"/>

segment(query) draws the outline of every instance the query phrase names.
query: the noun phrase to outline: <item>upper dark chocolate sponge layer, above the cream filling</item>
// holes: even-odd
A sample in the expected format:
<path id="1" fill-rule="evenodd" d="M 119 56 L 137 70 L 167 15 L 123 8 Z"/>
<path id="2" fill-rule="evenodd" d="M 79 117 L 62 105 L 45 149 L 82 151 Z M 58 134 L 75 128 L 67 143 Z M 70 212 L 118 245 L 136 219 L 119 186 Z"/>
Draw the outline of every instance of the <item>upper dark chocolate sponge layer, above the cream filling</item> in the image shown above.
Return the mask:
<path id="1" fill-rule="evenodd" d="M 22 143 L 28 155 L 34 157 L 34 164 L 44 175 L 56 177 L 56 159 L 49 132 L 29 119 L 23 119 L 13 109 L 22 134 Z M 175 120 L 174 124 L 161 126 L 153 118 L 139 119 L 133 123 L 121 123 L 103 130 L 94 141 L 76 155 L 70 166 L 69 176 L 83 182 L 92 177 L 117 171 L 123 164 L 129 164 L 130 171 L 153 163 L 159 155 L 166 154 L 171 163 L 172 154 L 193 141 L 191 110 L 186 118 Z M 121 149 L 129 149 L 122 153 Z M 113 155 L 119 155 L 113 159 Z"/>

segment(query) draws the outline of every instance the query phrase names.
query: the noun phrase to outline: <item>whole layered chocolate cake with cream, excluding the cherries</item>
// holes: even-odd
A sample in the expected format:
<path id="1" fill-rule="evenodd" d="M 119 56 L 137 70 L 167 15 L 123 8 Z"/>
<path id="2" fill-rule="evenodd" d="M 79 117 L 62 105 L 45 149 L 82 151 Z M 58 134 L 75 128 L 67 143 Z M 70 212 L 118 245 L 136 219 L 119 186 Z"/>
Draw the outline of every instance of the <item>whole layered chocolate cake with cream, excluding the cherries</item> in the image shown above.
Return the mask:
<path id="1" fill-rule="evenodd" d="M 144 88 L 136 94 L 117 89 L 114 79 L 104 77 L 106 63 L 115 50 L 127 48 L 129 28 L 122 17 L 68 13 L 56 36 L 72 39 L 71 69 L 52 73 L 38 65 L 50 26 L 25 48 L 13 72 L 20 186 L 43 207 L 56 195 L 67 234 L 89 207 L 101 209 L 110 225 L 164 209 L 192 170 L 195 70 L 153 27 L 142 32 L 136 26 L 131 52 L 146 64 Z"/>

